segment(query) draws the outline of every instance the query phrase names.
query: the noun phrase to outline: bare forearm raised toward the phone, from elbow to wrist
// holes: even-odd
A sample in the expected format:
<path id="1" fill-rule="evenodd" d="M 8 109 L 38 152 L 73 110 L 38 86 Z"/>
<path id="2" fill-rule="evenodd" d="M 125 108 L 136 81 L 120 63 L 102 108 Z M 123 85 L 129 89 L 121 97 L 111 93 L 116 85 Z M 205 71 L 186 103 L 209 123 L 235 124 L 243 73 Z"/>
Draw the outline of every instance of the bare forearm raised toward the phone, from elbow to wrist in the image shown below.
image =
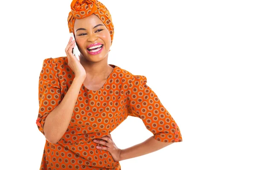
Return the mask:
<path id="1" fill-rule="evenodd" d="M 83 78 L 74 78 L 61 103 L 47 116 L 44 122 L 44 136 L 47 141 L 57 143 L 67 130 Z"/>

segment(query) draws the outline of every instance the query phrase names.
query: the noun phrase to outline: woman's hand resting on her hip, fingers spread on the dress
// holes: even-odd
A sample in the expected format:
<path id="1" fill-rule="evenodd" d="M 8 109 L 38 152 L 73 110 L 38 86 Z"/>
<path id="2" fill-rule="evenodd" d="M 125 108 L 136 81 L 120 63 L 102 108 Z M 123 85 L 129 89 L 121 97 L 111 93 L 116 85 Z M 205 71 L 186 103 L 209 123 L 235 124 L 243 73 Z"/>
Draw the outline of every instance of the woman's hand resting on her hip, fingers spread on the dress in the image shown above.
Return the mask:
<path id="1" fill-rule="evenodd" d="M 102 139 L 104 141 L 99 139 Z M 119 149 L 116 146 L 116 144 L 113 142 L 111 134 L 108 134 L 107 136 L 103 136 L 101 138 L 93 139 L 93 142 L 104 145 L 104 146 L 97 146 L 96 148 L 100 150 L 107 150 L 111 154 L 114 161 L 120 160 L 122 149 Z"/>

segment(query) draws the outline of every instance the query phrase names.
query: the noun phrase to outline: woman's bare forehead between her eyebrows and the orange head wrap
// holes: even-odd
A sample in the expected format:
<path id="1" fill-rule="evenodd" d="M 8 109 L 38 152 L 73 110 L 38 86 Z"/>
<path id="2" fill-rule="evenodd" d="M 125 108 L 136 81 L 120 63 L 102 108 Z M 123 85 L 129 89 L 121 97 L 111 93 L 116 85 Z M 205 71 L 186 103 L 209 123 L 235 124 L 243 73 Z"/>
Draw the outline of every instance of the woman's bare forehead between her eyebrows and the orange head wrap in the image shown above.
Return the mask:
<path id="1" fill-rule="evenodd" d="M 76 19 L 74 23 L 74 30 L 76 30 L 77 28 L 93 28 L 93 26 L 96 26 L 98 24 L 104 25 L 99 17 L 97 17 L 95 14 L 91 14 L 88 17 Z"/>

